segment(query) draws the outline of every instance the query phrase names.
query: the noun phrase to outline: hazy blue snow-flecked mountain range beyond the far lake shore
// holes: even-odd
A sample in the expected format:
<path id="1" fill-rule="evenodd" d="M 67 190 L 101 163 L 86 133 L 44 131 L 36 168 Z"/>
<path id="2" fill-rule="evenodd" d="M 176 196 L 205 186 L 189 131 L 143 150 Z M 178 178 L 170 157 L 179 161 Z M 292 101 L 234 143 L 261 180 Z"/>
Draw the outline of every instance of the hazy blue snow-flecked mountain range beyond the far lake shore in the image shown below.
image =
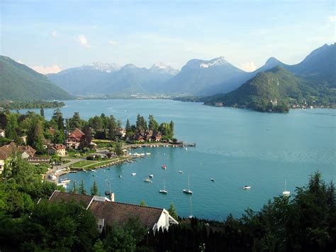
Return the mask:
<path id="1" fill-rule="evenodd" d="M 298 77 L 335 85 L 335 43 L 323 45 L 296 65 L 286 65 L 274 57 L 254 72 L 245 72 L 224 57 L 212 60 L 193 59 L 181 71 L 168 65 L 150 69 L 128 64 L 101 62 L 63 70 L 49 79 L 74 95 L 129 96 L 130 94 L 175 94 L 205 96 L 230 92 L 247 80 L 276 66 L 282 66 Z"/>

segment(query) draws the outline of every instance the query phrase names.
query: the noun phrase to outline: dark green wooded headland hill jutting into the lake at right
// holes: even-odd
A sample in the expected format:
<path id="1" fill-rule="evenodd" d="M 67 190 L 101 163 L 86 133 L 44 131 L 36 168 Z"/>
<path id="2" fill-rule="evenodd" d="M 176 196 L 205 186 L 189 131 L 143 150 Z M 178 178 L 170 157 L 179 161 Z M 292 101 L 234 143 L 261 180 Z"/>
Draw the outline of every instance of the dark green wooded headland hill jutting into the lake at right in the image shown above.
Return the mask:
<path id="1" fill-rule="evenodd" d="M 284 67 L 260 72 L 233 92 L 203 99 L 204 104 L 237 106 L 257 111 L 288 111 L 291 104 L 330 104 L 336 102 L 335 89 L 310 84 Z"/>

